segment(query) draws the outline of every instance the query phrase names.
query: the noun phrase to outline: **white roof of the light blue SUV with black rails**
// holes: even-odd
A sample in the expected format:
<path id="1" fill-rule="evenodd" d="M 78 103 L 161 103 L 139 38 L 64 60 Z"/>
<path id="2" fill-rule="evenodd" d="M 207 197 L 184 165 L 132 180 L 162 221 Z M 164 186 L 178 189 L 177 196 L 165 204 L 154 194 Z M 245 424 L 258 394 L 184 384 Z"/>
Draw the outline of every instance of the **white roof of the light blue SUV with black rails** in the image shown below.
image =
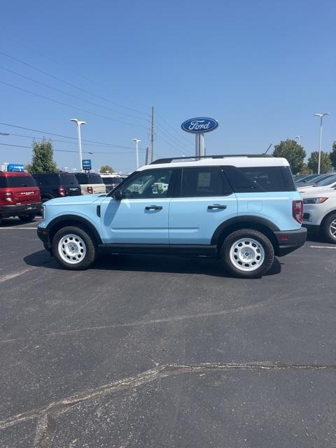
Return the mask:
<path id="1" fill-rule="evenodd" d="M 271 155 L 209 155 L 200 160 L 190 158 L 158 159 L 151 165 L 144 165 L 138 171 L 144 169 L 172 168 L 172 167 L 209 167 L 209 166 L 233 165 L 234 167 L 288 167 L 288 161 L 284 158 L 276 158 Z"/>

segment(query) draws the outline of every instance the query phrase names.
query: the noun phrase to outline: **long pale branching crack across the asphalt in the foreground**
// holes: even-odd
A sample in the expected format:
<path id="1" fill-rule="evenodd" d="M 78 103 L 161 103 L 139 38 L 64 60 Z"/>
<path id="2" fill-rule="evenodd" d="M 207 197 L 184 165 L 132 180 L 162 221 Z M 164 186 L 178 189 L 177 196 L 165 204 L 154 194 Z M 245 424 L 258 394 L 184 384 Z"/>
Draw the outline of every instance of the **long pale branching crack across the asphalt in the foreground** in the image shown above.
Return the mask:
<path id="1" fill-rule="evenodd" d="M 80 405 L 83 402 L 98 398 L 107 393 L 114 393 L 122 391 L 127 388 L 134 388 L 146 384 L 155 379 L 162 379 L 176 374 L 186 374 L 193 372 L 204 372 L 212 370 L 325 370 L 336 369 L 336 365 L 323 364 L 279 364 L 269 363 L 267 361 L 255 363 L 201 363 L 196 365 L 188 364 L 166 364 L 160 367 L 155 367 L 151 370 L 146 370 L 134 377 L 127 377 L 118 381 L 113 381 L 109 384 L 104 384 L 97 388 L 88 389 L 86 391 L 71 395 L 69 398 L 63 398 L 57 402 L 52 402 L 45 407 L 32 409 L 28 412 L 23 412 L 10 417 L 9 419 L 0 421 L 0 430 L 13 426 L 22 421 L 31 419 L 39 419 L 36 428 L 36 444 L 34 448 L 45 448 L 46 440 L 50 438 L 52 433 L 56 430 L 56 416 L 63 414 L 73 406 Z"/>

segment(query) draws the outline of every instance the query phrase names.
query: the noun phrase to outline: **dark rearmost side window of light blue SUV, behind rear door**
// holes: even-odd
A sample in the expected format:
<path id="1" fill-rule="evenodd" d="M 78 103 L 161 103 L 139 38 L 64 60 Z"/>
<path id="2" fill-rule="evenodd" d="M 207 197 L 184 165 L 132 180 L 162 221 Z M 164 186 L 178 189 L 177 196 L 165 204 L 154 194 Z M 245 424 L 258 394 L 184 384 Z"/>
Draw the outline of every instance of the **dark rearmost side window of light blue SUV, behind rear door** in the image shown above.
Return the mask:
<path id="1" fill-rule="evenodd" d="M 235 193 L 295 191 L 289 167 L 224 167 Z"/>

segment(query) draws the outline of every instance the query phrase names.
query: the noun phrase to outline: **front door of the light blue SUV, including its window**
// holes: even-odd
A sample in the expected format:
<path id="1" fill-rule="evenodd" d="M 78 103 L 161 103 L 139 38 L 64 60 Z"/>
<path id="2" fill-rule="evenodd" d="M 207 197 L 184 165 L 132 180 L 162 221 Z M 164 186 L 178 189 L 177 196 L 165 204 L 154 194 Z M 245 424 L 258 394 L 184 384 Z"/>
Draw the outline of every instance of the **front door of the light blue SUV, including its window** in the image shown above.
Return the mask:
<path id="1" fill-rule="evenodd" d="M 169 244 L 169 205 L 174 169 L 148 169 L 132 176 L 120 190 L 123 199 L 101 203 L 104 244 Z"/>

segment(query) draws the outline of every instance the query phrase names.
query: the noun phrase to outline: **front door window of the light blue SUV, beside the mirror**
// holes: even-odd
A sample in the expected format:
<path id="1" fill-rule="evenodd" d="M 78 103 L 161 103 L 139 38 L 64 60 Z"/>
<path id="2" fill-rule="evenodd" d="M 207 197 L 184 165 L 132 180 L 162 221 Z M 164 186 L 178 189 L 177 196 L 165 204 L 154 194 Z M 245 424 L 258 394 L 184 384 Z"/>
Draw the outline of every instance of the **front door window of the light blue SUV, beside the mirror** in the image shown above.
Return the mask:
<path id="1" fill-rule="evenodd" d="M 151 169 L 125 182 L 122 191 L 125 199 L 169 197 L 172 190 L 172 169 Z"/>

